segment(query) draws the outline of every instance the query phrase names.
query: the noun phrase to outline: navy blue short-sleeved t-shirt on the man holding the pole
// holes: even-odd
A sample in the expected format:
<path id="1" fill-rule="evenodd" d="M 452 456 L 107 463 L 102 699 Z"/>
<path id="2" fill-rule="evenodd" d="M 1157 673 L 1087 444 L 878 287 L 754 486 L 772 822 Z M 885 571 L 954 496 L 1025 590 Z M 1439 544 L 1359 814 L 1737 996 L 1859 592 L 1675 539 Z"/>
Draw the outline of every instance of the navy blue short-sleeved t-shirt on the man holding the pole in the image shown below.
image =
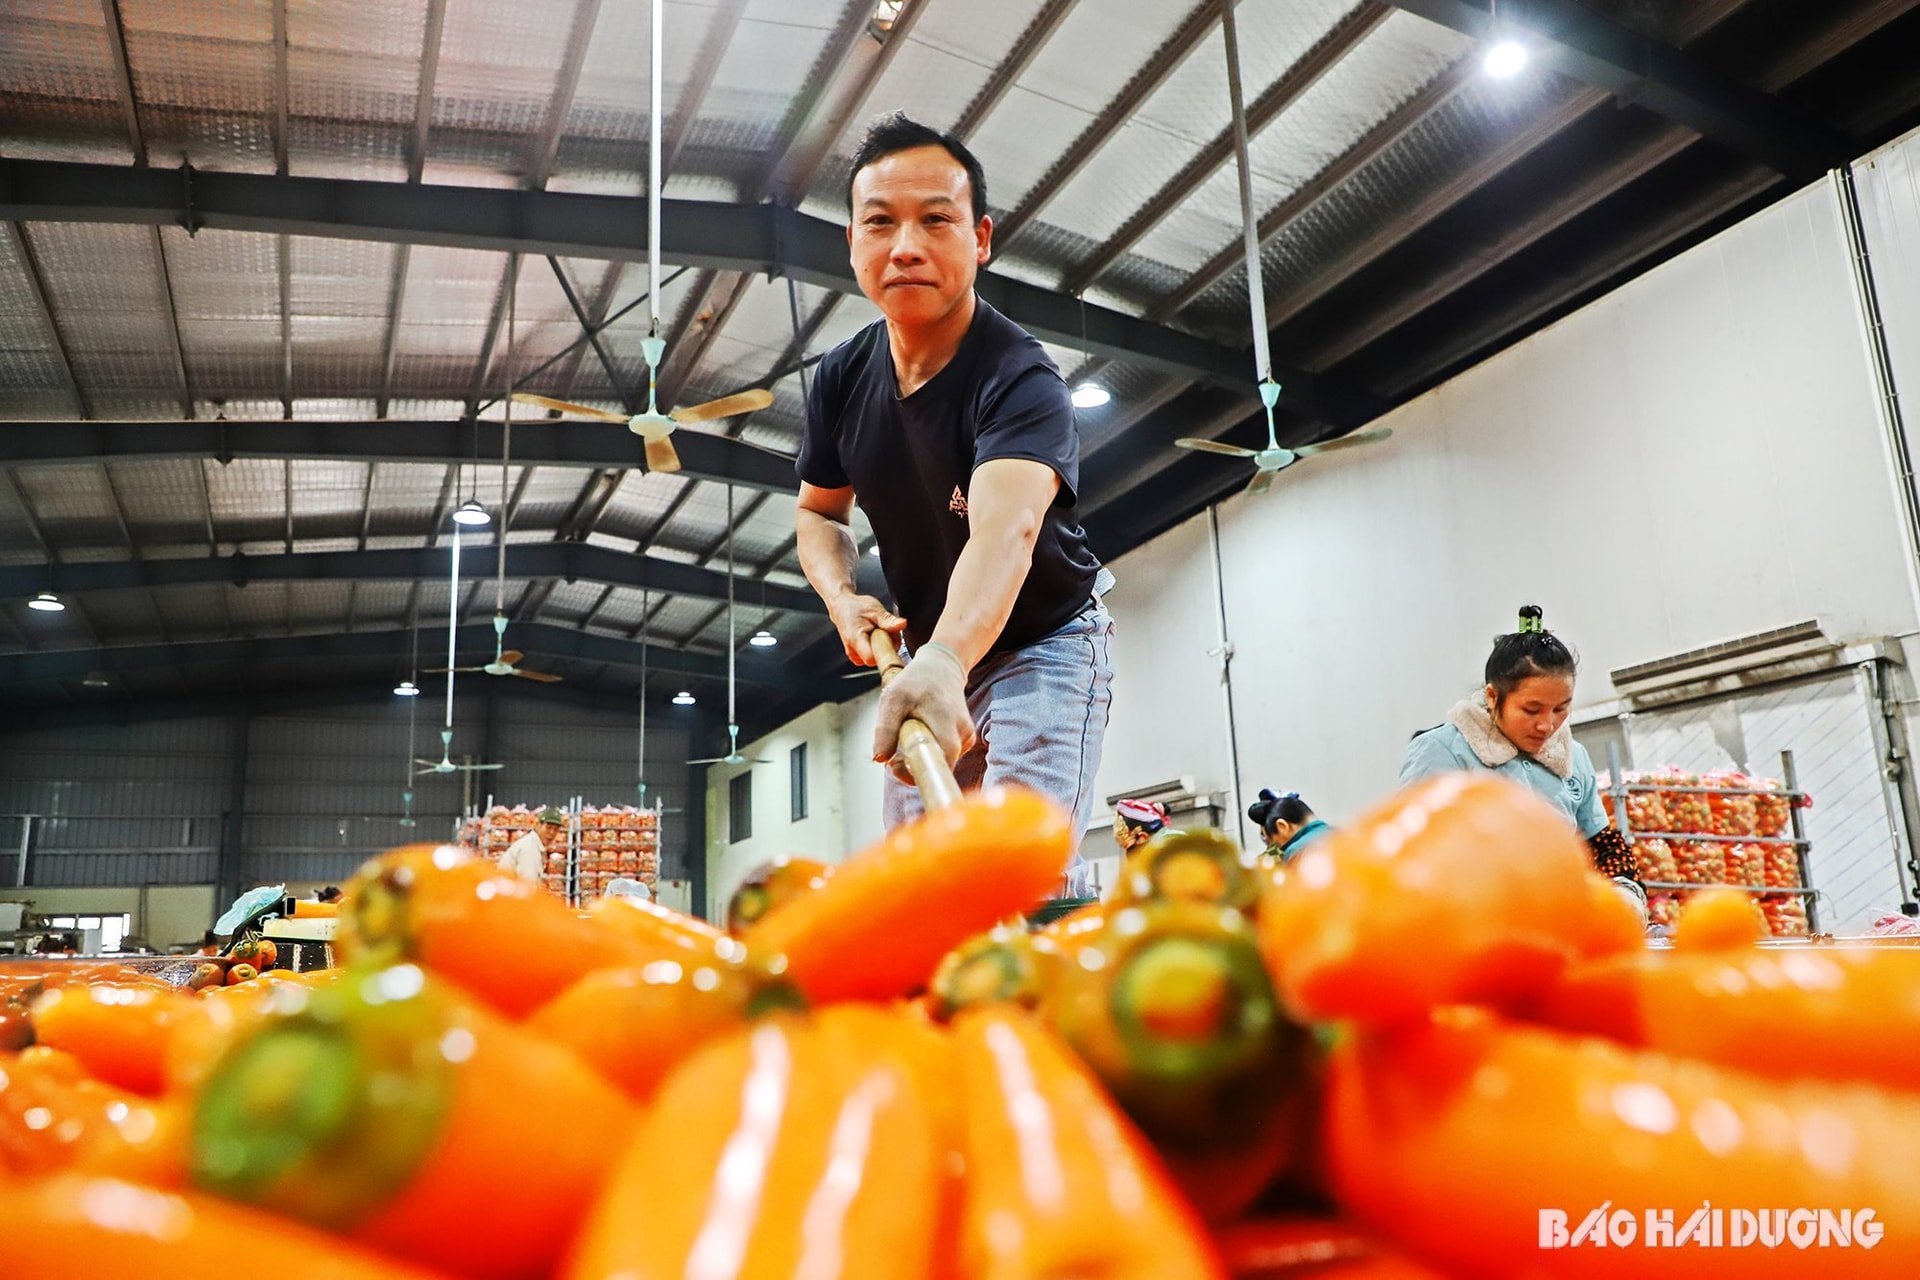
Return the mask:
<path id="1" fill-rule="evenodd" d="M 1004 652 L 1066 626 L 1092 599 L 1100 570 L 1079 526 L 1079 432 L 1060 368 L 979 297 L 960 349 L 904 399 L 885 320 L 820 361 L 795 470 L 822 489 L 852 486 L 910 643 L 925 643 L 947 608 L 947 583 L 968 539 L 973 468 L 993 459 L 1031 459 L 1060 474 L 1033 568 L 993 643 L 993 652 Z"/>

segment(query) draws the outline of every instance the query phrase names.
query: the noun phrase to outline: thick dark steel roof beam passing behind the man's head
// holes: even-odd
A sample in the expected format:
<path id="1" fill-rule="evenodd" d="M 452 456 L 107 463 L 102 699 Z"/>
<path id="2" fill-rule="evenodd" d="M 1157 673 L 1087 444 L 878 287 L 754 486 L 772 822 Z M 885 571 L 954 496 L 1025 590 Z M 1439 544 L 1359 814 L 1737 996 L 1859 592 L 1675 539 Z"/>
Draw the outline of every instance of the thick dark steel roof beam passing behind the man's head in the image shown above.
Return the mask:
<path id="1" fill-rule="evenodd" d="M 0 219 L 165 225 L 267 234 L 438 244 L 501 253 L 557 253 L 639 261 L 645 219 L 632 196 L 530 192 L 353 178 L 129 169 L 42 159 L 0 159 Z M 660 255 L 714 271 L 791 274 L 803 284 L 858 294 L 839 223 L 768 203 L 668 200 Z M 981 274 L 979 296 L 1043 342 L 1089 349 L 1221 386 L 1246 384 L 1246 355 L 1192 334 L 1000 274 Z M 1294 376 L 1288 390 L 1350 407 L 1334 386 Z"/>

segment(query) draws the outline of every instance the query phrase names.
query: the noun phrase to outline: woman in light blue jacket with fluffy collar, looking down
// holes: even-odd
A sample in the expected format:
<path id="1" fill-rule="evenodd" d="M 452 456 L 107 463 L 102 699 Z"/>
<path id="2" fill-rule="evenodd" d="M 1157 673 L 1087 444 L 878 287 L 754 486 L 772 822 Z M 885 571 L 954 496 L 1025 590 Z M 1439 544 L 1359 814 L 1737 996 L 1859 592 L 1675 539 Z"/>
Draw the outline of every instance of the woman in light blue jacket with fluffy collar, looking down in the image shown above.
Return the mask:
<path id="1" fill-rule="evenodd" d="M 1400 781 L 1492 770 L 1521 783 L 1567 816 L 1586 837 L 1594 867 L 1645 912 L 1634 852 L 1607 823 L 1594 762 L 1567 725 L 1574 670 L 1572 651 L 1546 629 L 1540 606 L 1526 604 L 1519 629 L 1494 641 L 1486 687 L 1407 745 Z"/>

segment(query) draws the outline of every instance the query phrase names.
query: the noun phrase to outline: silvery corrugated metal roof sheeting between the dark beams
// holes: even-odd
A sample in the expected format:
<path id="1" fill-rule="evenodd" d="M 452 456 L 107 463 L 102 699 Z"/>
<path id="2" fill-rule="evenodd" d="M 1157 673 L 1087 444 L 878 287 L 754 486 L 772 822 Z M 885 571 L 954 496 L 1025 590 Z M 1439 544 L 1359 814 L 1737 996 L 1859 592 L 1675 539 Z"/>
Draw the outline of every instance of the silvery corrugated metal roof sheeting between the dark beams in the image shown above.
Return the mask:
<path id="1" fill-rule="evenodd" d="M 131 163 L 131 107 L 144 154 L 159 167 L 184 159 L 202 171 L 271 173 L 278 142 L 296 177 L 399 182 L 413 159 L 424 182 L 641 192 L 649 129 L 645 6 L 447 4 L 428 73 L 422 56 L 430 0 L 284 0 L 282 86 L 273 6 L 111 4 L 125 31 L 132 104 L 121 100 L 106 31 L 109 8 L 98 0 L 42 0 L 0 10 L 0 98 L 8 104 L 0 154 Z M 791 173 L 791 163 L 806 159 L 812 148 L 824 148 L 801 205 L 839 221 L 849 155 L 866 117 L 906 107 L 947 127 L 989 84 L 1010 83 L 970 138 L 987 167 L 1002 225 L 1008 211 L 1031 203 L 1068 148 L 1083 138 L 1098 146 L 1037 213 L 1025 209 L 1033 217 L 996 246 L 993 269 L 1043 288 L 1091 276 L 1085 296 L 1096 305 L 1156 317 L 1173 311 L 1165 317 L 1171 324 L 1221 344 L 1244 344 L 1235 167 L 1219 163 L 1188 190 L 1169 190 L 1227 125 L 1217 8 L 1200 0 L 1081 0 L 1043 44 L 1025 48 L 1035 4 L 916 4 L 922 12 L 902 27 L 900 44 L 885 48 L 860 27 L 868 0 L 745 0 L 737 27 L 730 25 L 733 0 L 670 0 L 664 123 L 684 144 L 674 154 L 668 192 L 756 201 L 768 194 L 768 180 Z M 1699 38 L 1699 50 L 1715 67 L 1764 61 L 1766 17 L 1784 12 L 1782 0 L 1749 0 L 1745 8 L 1740 0 L 1695 6 L 1590 0 L 1590 8 L 1672 44 L 1711 31 L 1711 38 Z M 1862 17 L 1868 0 L 1836 0 L 1832 8 L 1836 23 L 1870 27 Z M 586 27 L 589 10 L 593 21 Z M 1563 125 L 1590 98 L 1551 75 L 1486 83 L 1471 73 L 1473 50 L 1463 36 L 1400 12 L 1375 12 L 1359 0 L 1242 0 L 1235 12 L 1248 98 L 1279 84 L 1329 38 L 1346 40 L 1365 29 L 1250 142 L 1256 211 L 1298 205 L 1298 215 L 1263 246 L 1269 303 L 1281 320 L 1323 292 L 1352 303 L 1352 292 L 1338 290 L 1352 269 L 1417 232 L 1459 194 L 1455 186 L 1465 190 L 1461 175 L 1484 177 L 1482 171 L 1517 163 L 1528 146 L 1551 146 L 1555 129 L 1544 125 Z M 1805 29 L 1805 23 L 1793 27 Z M 881 58 L 887 65 L 866 88 L 860 77 Z M 566 69 L 574 61 L 578 77 L 570 79 Z M 415 155 L 422 81 L 432 102 Z M 866 92 L 858 111 L 849 113 L 847 96 L 856 81 Z M 1457 92 L 1450 96 L 1436 90 L 1452 84 Z M 1135 92 L 1140 86 L 1152 88 Z M 286 132 L 276 140 L 282 90 Z M 1139 102 L 1131 113 L 1114 113 L 1123 94 Z M 1373 146 L 1382 121 L 1407 104 L 1425 107 L 1436 100 L 1396 140 Z M 1599 129 L 1584 123 L 1582 130 Z M 783 154 L 789 144 L 795 154 Z M 1367 159 L 1348 165 L 1344 157 L 1356 148 L 1367 148 Z M 1331 180 L 1336 169 L 1340 180 Z M 1315 198 L 1308 201 L 1302 192 Z M 1150 203 L 1160 217 L 1142 217 Z M 634 217 L 643 217 L 637 201 Z M 1096 259 L 1112 261 L 1098 273 L 1081 273 Z M 1171 309 L 1167 299 L 1188 292 L 1188 282 L 1210 263 L 1227 265 L 1208 271 L 1217 280 L 1190 305 Z M 493 328 L 505 303 L 507 265 L 505 253 L 465 248 L 25 223 L 0 234 L 0 415 L 61 420 L 190 413 L 276 420 L 290 413 L 359 422 L 384 409 L 394 420 L 451 420 L 465 416 L 470 403 L 493 401 L 511 380 L 612 409 L 645 397 L 639 342 L 653 313 L 664 332 L 678 336 L 668 368 L 678 399 L 693 403 L 766 382 L 781 372 L 778 365 L 793 347 L 795 317 L 783 278 L 751 278 L 724 326 L 708 334 L 707 324 L 718 322 L 733 290 L 733 274 L 680 273 L 662 286 L 657 305 L 618 315 L 647 290 L 639 265 L 559 259 L 589 319 L 618 315 L 599 336 L 612 365 L 609 374 L 593 345 L 582 342 L 580 319 L 541 255 L 520 259 L 513 332 Z M 708 280 L 714 288 L 701 292 Z M 44 292 L 52 320 L 36 290 Z M 797 286 L 797 303 L 803 324 L 831 303 L 806 344 L 814 355 L 877 315 L 864 297 L 835 299 L 812 284 Z M 695 344 L 705 347 L 699 361 L 691 361 Z M 1087 359 L 1071 342 L 1050 344 L 1048 353 L 1066 376 L 1083 376 Z M 1100 363 L 1098 378 L 1114 401 L 1081 413 L 1087 447 L 1125 447 L 1119 441 L 1131 436 L 1119 436 L 1119 428 L 1140 416 L 1142 403 L 1171 401 L 1156 415 L 1156 432 L 1162 420 L 1171 426 L 1185 413 L 1171 399 L 1179 384 L 1165 372 Z M 687 430 L 732 430 L 749 443 L 791 453 L 804 420 L 801 382 L 785 372 L 772 384 L 770 409 Z M 490 405 L 484 415 L 497 418 L 501 407 Z M 528 411 L 516 420 L 532 416 Z M 0 560 L 44 558 L 35 522 L 58 557 L 73 560 L 127 558 L 129 541 L 148 557 L 207 555 L 209 518 L 219 555 L 282 553 L 288 516 L 300 551 L 363 543 L 419 547 L 428 537 L 444 547 L 445 524 L 432 526 L 447 503 L 468 491 L 478 491 L 488 507 L 501 501 L 495 464 L 478 459 L 476 472 L 459 466 L 470 462 L 449 457 L 444 464 L 376 466 L 346 459 L 292 466 L 177 459 L 113 461 L 106 468 L 25 464 L 15 468 L 25 507 L 12 486 L 0 486 Z M 647 474 L 639 468 L 639 441 L 634 466 L 618 476 L 605 505 L 597 501 L 605 486 L 589 470 L 526 472 L 515 464 L 507 484 L 509 493 L 518 493 L 515 541 L 576 537 L 622 551 L 647 543 L 653 555 L 678 562 L 710 562 L 724 549 L 724 487 Z M 739 510 L 758 503 L 735 535 L 737 558 L 760 562 L 781 553 L 793 533 L 793 499 L 758 501 L 745 489 L 735 497 Z M 864 516 L 856 528 L 864 541 Z M 474 545 L 492 551 L 490 537 Z M 766 581 L 799 581 L 791 553 L 781 562 L 785 568 Z M 511 589 L 518 603 L 530 585 L 515 581 Z M 597 583 L 559 583 L 545 597 L 545 614 L 586 616 L 601 595 Z M 36 641 L 60 637 L 60 643 L 90 643 L 94 635 L 109 643 L 161 633 L 213 635 L 228 626 L 240 633 L 324 629 L 328 622 L 346 626 L 349 604 L 355 626 L 392 624 L 415 597 L 422 610 L 444 610 L 444 587 L 434 583 L 420 583 L 419 591 L 392 581 L 298 583 L 292 593 L 284 583 L 255 583 L 121 593 L 104 599 L 98 610 L 35 616 L 25 626 L 36 628 Z M 630 597 L 626 589 L 607 595 L 595 626 L 609 620 L 614 629 L 632 626 L 637 603 Z M 662 626 L 691 628 L 710 612 L 707 601 L 670 601 L 660 616 Z M 10 608 L 8 616 L 17 618 L 19 610 Z M 776 629 L 783 626 L 789 622 Z M 804 629 L 814 620 L 791 626 Z M 0 647 L 8 643 L 0 629 Z M 140 676 L 129 685 L 140 681 L 167 691 L 179 683 L 171 676 Z"/>

